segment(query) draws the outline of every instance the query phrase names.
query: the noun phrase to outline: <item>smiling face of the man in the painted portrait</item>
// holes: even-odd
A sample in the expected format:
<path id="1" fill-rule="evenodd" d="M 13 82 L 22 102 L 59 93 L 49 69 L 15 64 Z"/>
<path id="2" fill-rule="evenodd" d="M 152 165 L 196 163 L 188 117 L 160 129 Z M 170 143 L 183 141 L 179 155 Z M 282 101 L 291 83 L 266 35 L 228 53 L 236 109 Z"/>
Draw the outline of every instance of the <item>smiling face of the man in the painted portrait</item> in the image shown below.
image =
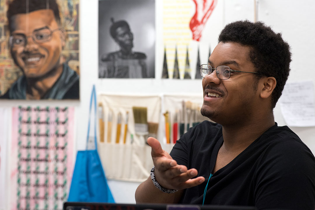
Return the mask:
<path id="1" fill-rule="evenodd" d="M 14 46 L 11 44 L 14 62 L 20 66 L 26 77 L 43 77 L 47 73 L 53 73 L 51 70 L 61 65 L 60 55 L 65 40 L 62 32 L 58 30 L 59 26 L 52 10 L 36 10 L 28 15 L 16 14 L 12 17 L 12 28 L 11 35 L 26 36 L 25 45 Z M 53 31 L 51 37 L 43 43 L 35 42 L 32 33 L 34 32 L 34 37 L 40 40 L 43 35 L 38 31 L 41 31 L 39 29 L 42 28 Z M 15 43 L 18 42 L 19 40 L 15 40 Z"/>

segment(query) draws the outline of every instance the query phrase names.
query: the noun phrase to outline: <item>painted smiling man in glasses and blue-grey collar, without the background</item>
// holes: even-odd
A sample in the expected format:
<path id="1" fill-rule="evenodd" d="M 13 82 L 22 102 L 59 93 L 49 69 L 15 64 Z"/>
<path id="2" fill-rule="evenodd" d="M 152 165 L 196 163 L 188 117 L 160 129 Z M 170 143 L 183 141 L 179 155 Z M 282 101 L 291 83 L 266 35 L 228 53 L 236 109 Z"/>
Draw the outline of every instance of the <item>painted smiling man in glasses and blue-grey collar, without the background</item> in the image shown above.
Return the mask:
<path id="1" fill-rule="evenodd" d="M 65 32 L 55 0 L 14 0 L 7 16 L 10 51 L 23 71 L 6 99 L 78 99 L 79 76 L 61 62 Z M 26 13 L 29 11 L 29 13 Z"/>

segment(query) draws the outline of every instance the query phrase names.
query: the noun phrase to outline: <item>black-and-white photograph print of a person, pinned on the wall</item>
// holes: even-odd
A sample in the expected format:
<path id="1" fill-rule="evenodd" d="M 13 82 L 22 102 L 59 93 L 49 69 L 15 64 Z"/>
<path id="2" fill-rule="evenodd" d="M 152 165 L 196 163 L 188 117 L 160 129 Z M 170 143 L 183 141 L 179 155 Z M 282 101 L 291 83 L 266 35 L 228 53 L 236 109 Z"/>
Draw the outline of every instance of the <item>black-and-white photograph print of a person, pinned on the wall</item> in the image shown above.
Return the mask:
<path id="1" fill-rule="evenodd" d="M 99 78 L 155 77 L 155 0 L 99 0 Z"/>

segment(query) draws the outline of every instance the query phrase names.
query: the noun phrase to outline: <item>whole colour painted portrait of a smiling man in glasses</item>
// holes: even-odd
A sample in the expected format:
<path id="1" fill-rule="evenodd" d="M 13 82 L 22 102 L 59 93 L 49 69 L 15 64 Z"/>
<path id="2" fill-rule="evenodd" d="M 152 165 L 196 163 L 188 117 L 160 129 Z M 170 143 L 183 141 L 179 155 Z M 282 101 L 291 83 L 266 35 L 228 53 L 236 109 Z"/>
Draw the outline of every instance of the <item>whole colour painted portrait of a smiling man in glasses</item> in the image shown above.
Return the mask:
<path id="1" fill-rule="evenodd" d="M 79 0 L 0 0 L 0 99 L 79 99 Z"/>

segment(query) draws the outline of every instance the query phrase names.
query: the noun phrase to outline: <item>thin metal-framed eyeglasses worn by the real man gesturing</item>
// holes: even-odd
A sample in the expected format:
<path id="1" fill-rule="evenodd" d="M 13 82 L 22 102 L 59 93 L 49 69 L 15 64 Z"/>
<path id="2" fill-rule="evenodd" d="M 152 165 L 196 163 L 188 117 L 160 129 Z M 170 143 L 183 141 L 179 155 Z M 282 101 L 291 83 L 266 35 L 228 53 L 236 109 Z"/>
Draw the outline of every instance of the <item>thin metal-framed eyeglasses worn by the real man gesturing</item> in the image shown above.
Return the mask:
<path id="1" fill-rule="evenodd" d="M 243 73 L 253 73 L 253 74 L 263 74 L 261 72 L 249 72 L 249 71 L 237 71 L 237 70 L 232 70 L 230 67 L 227 65 L 219 65 L 216 68 L 212 68 L 211 65 L 208 64 L 202 64 L 200 65 L 200 74 L 201 77 L 205 78 L 208 74 L 211 74 L 214 70 L 216 73 L 216 76 L 221 79 L 229 79 L 231 77 L 231 72 L 243 72 Z"/>

